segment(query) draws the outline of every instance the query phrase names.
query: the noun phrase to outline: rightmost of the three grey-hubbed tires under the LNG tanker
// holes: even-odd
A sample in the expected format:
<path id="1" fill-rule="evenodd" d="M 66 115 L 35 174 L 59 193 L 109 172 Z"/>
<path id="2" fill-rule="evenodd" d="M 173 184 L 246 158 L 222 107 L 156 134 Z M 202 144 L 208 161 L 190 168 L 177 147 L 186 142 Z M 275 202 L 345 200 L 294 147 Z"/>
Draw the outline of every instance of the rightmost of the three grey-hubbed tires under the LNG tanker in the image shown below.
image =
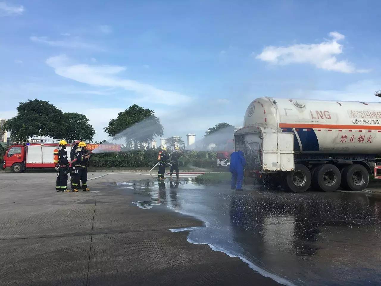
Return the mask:
<path id="1" fill-rule="evenodd" d="M 369 174 L 360 164 L 352 164 L 344 168 L 343 178 L 348 191 L 362 191 L 368 186 Z"/>

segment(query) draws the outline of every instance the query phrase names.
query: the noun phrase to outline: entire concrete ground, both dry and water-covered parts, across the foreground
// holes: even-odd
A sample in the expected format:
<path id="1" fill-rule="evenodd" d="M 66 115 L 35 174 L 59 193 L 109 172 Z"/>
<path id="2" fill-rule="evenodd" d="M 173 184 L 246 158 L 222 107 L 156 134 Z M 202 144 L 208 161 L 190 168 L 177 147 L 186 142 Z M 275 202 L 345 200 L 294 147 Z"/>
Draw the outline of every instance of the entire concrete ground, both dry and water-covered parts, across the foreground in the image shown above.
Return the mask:
<path id="1" fill-rule="evenodd" d="M 112 174 L 90 180 L 91 192 L 56 193 L 54 175 L 0 173 L 0 285 L 378 285 L 381 278 L 377 192 L 236 192 Z"/>

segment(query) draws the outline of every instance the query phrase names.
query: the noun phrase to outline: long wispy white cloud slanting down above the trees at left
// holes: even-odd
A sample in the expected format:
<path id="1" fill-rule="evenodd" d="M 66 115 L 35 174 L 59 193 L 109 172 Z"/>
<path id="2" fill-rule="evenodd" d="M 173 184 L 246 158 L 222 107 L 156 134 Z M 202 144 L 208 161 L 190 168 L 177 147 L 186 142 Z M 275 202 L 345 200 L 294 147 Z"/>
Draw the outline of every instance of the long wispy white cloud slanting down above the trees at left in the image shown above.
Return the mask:
<path id="1" fill-rule="evenodd" d="M 136 102 L 149 101 L 166 105 L 187 103 L 191 98 L 177 92 L 162 90 L 135 80 L 122 79 L 118 73 L 125 71 L 123 66 L 73 64 L 66 55 L 53 56 L 46 64 L 54 68 L 56 74 L 77 82 L 97 87 L 123 88 L 136 93 Z"/>

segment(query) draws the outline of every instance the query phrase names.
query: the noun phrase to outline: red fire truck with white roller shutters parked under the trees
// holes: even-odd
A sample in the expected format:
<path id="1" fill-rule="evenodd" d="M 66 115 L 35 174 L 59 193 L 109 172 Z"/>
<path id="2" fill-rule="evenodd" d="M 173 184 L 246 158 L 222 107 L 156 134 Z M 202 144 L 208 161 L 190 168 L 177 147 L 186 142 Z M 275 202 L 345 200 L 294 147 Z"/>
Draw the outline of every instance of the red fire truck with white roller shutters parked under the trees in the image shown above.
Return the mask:
<path id="1" fill-rule="evenodd" d="M 38 142 L 39 141 L 39 142 Z M 32 140 L 26 145 L 11 145 L 4 155 L 3 168 L 11 168 L 14 173 L 27 168 L 54 168 L 53 150 L 60 140 Z M 66 151 L 70 154 L 75 140 L 66 140 Z"/>

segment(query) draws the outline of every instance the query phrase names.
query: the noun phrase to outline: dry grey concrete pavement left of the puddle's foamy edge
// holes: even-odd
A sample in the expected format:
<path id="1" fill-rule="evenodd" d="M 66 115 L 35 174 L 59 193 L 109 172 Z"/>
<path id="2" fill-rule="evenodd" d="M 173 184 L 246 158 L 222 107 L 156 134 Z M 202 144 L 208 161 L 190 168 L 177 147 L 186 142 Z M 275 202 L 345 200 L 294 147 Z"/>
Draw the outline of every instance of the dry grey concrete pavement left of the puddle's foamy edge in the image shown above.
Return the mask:
<path id="1" fill-rule="evenodd" d="M 170 231 L 202 221 L 165 204 L 140 209 L 133 202 L 151 196 L 112 183 L 141 175 L 78 193 L 57 193 L 54 175 L 0 172 L 0 285 L 278 285 Z"/>

